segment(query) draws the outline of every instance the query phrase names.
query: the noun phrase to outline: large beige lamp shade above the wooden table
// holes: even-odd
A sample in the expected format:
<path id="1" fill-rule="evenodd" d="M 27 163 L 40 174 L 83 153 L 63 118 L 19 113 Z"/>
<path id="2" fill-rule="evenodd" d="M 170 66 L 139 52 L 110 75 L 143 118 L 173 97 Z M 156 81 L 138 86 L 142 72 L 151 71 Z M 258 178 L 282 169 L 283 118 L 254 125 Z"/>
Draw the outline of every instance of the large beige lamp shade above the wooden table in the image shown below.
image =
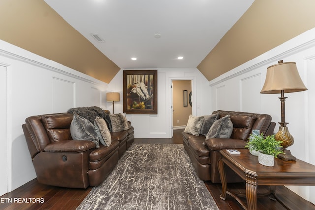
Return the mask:
<path id="1" fill-rule="evenodd" d="M 303 84 L 295 62 L 278 61 L 278 64 L 267 68 L 265 84 L 260 93 L 274 94 L 288 92 L 305 91 L 307 88 Z"/>

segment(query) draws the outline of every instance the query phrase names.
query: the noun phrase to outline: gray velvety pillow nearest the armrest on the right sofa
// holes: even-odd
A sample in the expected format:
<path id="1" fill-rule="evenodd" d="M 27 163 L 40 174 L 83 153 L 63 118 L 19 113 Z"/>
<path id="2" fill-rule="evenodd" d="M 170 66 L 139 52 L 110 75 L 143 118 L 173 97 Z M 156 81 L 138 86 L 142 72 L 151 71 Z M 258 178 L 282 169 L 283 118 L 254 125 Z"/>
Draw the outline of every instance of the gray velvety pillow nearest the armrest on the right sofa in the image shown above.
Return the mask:
<path id="1" fill-rule="evenodd" d="M 230 115 L 216 120 L 209 129 L 206 139 L 211 138 L 230 138 L 233 132 L 233 123 Z"/>

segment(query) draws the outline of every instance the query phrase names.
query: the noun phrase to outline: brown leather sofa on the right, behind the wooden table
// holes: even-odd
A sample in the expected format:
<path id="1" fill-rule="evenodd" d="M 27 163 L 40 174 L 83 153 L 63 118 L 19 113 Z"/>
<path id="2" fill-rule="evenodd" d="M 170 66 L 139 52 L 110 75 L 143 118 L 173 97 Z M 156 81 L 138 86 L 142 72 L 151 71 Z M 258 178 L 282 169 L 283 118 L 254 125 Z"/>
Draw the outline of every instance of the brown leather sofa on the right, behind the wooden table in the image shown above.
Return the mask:
<path id="1" fill-rule="evenodd" d="M 205 136 L 194 136 L 183 131 L 183 145 L 187 151 L 191 162 L 201 180 L 221 183 L 217 163 L 222 149 L 244 149 L 246 141 L 252 130 L 260 130 L 264 135 L 272 135 L 276 123 L 271 121 L 271 116 L 267 114 L 234 112 L 234 111 L 214 111 L 219 113 L 219 118 L 229 114 L 233 123 L 233 132 L 230 138 L 208 139 L 205 144 Z M 242 182 L 243 180 L 227 166 L 226 180 L 228 183 Z"/>

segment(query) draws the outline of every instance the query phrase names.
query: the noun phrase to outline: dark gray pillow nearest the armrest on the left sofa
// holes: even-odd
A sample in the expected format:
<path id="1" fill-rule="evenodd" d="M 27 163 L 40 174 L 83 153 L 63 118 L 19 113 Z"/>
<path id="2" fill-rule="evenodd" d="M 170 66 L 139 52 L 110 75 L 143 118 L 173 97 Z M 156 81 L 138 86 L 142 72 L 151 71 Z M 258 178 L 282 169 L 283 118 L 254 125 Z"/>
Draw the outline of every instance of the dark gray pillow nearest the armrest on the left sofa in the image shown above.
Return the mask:
<path id="1" fill-rule="evenodd" d="M 94 125 L 87 119 L 73 113 L 73 120 L 70 125 L 70 133 L 74 140 L 93 141 L 96 148 L 99 148 L 99 140 L 94 130 Z"/>

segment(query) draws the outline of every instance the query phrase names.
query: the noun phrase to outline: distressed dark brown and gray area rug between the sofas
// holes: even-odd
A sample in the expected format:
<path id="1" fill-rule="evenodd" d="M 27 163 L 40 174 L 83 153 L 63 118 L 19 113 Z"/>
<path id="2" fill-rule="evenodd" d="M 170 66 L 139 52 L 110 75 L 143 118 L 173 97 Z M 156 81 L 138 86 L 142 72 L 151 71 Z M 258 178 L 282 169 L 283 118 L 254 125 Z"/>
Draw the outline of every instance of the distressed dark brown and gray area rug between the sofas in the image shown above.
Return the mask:
<path id="1" fill-rule="evenodd" d="M 219 210 L 182 144 L 133 144 L 77 210 Z"/>

